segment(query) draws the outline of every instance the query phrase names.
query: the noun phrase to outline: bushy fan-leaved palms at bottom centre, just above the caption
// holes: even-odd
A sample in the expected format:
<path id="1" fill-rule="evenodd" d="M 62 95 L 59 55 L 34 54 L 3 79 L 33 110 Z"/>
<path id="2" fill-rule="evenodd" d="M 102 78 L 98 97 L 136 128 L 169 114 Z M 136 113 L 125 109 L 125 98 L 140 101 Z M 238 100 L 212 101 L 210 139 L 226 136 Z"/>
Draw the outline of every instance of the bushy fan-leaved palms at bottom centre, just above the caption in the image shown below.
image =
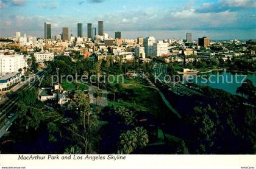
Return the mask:
<path id="1" fill-rule="evenodd" d="M 118 154 L 130 154 L 137 148 L 145 147 L 149 142 L 146 129 L 137 127 L 134 130 L 128 130 L 119 137 Z"/>

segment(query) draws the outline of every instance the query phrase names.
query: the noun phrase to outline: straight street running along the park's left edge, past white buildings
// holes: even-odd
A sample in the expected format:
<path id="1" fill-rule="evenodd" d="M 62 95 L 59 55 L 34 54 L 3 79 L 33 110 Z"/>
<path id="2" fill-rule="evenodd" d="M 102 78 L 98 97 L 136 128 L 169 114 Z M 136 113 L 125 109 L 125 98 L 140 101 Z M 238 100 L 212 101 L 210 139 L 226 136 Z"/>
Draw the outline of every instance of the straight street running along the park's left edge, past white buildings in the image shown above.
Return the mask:
<path id="1" fill-rule="evenodd" d="M 41 78 L 43 78 L 45 74 L 48 74 L 50 70 L 51 69 L 48 68 L 41 72 L 38 71 L 32 77 L 27 78 L 27 80 L 22 82 L 23 85 L 15 93 L 18 94 L 20 91 L 31 89 L 34 86 L 37 86 Z M 14 122 L 18 117 L 18 112 L 16 112 L 18 97 L 13 97 L 9 100 L 4 100 L 3 102 L 4 103 L 1 103 L 0 108 L 0 138 L 6 133 L 7 129 L 10 127 L 10 125 L 12 125 L 12 122 Z M 7 116 L 10 114 L 10 112 L 12 112 L 14 116 L 8 119 Z"/>

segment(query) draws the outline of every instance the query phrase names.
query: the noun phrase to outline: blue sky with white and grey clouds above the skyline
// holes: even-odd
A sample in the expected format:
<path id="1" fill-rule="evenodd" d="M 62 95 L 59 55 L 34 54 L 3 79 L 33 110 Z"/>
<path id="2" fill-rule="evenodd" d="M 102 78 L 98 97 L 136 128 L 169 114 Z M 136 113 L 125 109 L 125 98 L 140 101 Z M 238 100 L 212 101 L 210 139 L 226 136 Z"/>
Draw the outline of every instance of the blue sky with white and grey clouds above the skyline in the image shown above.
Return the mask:
<path id="1" fill-rule="evenodd" d="M 256 39 L 256 0 L 0 0 L 0 36 L 34 35 L 43 37 L 44 22 L 51 22 L 52 35 L 69 27 L 77 35 L 77 22 L 123 38 L 155 36 L 157 39 L 212 40 Z"/>

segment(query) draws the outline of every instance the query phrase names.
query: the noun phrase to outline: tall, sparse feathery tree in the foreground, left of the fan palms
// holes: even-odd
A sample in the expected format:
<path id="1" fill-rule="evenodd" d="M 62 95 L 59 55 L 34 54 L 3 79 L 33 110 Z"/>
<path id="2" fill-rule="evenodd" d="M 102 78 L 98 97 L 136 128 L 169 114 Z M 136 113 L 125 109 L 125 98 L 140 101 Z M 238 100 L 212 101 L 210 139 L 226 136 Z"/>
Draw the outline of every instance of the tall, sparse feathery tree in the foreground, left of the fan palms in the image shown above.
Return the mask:
<path id="1" fill-rule="evenodd" d="M 87 154 L 94 151 L 94 145 L 98 142 L 99 123 L 97 117 L 91 115 L 90 98 L 86 97 L 84 92 L 76 92 L 76 103 L 80 118 L 77 122 L 71 124 L 68 129 Z"/>

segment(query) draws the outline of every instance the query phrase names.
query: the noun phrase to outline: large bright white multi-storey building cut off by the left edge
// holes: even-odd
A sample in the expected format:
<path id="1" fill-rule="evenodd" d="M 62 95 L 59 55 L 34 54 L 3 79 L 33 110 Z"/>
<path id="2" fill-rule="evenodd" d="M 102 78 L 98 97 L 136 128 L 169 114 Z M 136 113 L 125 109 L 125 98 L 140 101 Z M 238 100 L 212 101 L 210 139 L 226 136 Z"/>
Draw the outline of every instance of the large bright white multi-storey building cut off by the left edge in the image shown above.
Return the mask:
<path id="1" fill-rule="evenodd" d="M 4 55 L 0 53 L 1 74 L 18 72 L 23 67 L 27 67 L 27 61 L 24 55 Z"/>

